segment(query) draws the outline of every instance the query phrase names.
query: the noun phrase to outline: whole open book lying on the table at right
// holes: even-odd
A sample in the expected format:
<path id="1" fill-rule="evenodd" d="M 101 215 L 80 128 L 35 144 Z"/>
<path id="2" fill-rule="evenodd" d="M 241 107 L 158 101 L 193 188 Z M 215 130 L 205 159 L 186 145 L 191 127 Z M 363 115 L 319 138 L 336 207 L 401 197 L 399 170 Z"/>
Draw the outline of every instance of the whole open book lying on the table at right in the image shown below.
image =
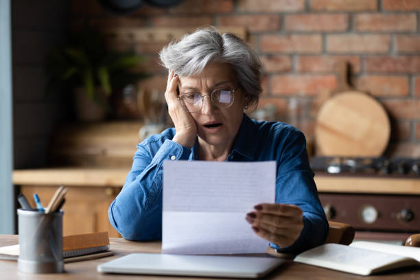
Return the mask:
<path id="1" fill-rule="evenodd" d="M 312 266 L 321 266 L 358 275 L 420 265 L 420 248 L 382 244 L 377 242 L 353 242 L 324 244 L 307 250 L 294 261 Z"/>

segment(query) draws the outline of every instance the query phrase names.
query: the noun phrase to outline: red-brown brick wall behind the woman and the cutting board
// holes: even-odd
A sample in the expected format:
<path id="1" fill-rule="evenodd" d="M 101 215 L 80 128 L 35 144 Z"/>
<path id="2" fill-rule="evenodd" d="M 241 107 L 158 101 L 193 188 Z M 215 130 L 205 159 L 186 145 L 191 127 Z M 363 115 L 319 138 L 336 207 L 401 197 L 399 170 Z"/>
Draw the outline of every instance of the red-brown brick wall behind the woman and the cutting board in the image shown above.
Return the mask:
<path id="1" fill-rule="evenodd" d="M 100 27 L 246 27 L 264 65 L 260 106 L 275 104 L 287 120 L 292 97 L 307 105 L 299 128 L 307 137 L 323 93 L 338 86 L 336 63 L 351 64 L 353 85 L 377 98 L 392 123 L 390 156 L 420 157 L 420 0 L 185 0 L 170 9 L 143 6 L 117 16 L 96 1 L 71 1 L 72 25 Z M 165 86 L 156 62 L 161 44 L 136 45 Z M 121 47 L 124 49 L 124 47 Z"/>

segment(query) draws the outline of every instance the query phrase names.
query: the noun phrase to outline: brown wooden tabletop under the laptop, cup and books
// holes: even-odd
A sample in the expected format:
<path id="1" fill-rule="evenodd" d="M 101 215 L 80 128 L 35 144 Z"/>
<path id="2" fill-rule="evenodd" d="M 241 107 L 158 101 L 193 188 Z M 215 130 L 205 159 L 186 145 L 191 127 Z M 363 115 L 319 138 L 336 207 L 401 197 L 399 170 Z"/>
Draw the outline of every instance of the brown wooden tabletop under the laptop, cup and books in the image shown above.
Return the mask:
<path id="1" fill-rule="evenodd" d="M 18 243 L 17 235 L 0 235 L 0 246 L 13 245 Z M 96 272 L 98 264 L 102 264 L 110 259 L 115 259 L 128 253 L 160 253 L 161 242 L 131 242 L 122 238 L 110 238 L 110 250 L 113 250 L 113 257 L 105 257 L 102 259 L 93 259 L 89 261 L 79 261 L 65 264 L 65 273 L 51 275 L 28 275 L 17 271 L 16 261 L 0 260 L 0 279 L 185 279 L 185 277 L 159 277 L 150 275 L 104 275 Z M 280 255 L 279 255 L 280 256 Z M 213 279 L 188 277 L 189 280 L 194 279 Z M 217 278 L 220 279 L 220 278 Z M 307 266 L 305 264 L 297 264 L 291 260 L 277 268 L 265 279 L 318 279 L 318 280 L 336 280 L 336 279 L 366 279 L 359 275 L 351 275 L 344 272 L 318 268 L 316 266 Z M 420 268 L 404 268 L 388 272 L 386 275 L 373 275 L 369 280 L 373 279 L 420 279 Z"/>

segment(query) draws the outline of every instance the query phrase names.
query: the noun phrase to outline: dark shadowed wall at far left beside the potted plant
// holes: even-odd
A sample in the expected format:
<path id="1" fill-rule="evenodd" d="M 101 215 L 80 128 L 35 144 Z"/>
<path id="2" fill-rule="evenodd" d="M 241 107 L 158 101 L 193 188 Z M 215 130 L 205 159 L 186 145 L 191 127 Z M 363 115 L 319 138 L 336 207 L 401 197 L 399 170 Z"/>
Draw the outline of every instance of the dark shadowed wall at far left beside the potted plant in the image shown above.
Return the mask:
<path id="1" fill-rule="evenodd" d="M 51 132 L 68 119 L 67 98 L 46 93 L 44 58 L 65 41 L 66 1 L 10 1 L 12 10 L 12 91 L 14 168 L 45 167 Z"/>

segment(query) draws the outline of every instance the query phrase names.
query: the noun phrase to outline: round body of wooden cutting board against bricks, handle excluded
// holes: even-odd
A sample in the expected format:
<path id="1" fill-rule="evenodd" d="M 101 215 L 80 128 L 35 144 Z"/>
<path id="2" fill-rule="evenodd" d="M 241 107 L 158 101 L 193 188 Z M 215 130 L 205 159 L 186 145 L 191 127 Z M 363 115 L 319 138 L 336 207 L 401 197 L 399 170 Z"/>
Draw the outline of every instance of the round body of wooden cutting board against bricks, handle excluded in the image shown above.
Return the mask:
<path id="1" fill-rule="evenodd" d="M 344 91 L 320 108 L 315 137 L 319 155 L 381 156 L 390 137 L 390 123 L 373 97 Z"/>

